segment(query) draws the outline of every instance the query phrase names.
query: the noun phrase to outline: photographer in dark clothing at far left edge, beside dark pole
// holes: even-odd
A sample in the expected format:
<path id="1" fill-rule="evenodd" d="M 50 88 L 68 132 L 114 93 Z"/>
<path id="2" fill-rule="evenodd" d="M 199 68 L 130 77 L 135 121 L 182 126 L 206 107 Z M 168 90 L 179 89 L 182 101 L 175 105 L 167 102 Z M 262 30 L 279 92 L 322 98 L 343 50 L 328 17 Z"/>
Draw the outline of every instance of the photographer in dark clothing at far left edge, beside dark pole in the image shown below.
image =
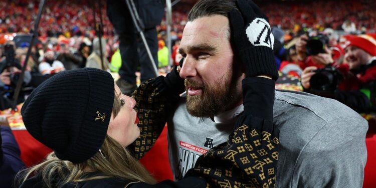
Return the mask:
<path id="1" fill-rule="evenodd" d="M 4 46 L 5 58 L 0 62 L 0 110 L 10 108 L 12 106 L 11 99 L 13 98 L 14 89 L 17 86 L 18 79 L 21 74 L 20 60 L 15 58 L 15 43 L 8 42 Z M 25 71 L 24 85 L 31 82 L 32 76 L 30 71 Z M 22 103 L 25 100 L 24 93 L 21 91 L 17 103 Z"/>

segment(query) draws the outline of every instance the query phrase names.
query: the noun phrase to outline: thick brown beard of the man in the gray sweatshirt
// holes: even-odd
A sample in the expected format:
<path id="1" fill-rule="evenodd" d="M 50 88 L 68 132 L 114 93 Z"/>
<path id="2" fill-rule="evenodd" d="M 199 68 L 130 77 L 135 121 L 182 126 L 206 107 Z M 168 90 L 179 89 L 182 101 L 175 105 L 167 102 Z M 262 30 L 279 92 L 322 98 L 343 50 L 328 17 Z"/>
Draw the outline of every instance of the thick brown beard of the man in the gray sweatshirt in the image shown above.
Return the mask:
<path id="1" fill-rule="evenodd" d="M 187 111 L 197 117 L 214 117 L 219 113 L 229 110 L 230 107 L 235 107 L 235 103 L 239 100 L 237 93 L 238 78 L 234 78 L 231 72 L 228 71 L 225 76 L 221 77 L 213 84 L 185 80 L 186 91 L 188 87 L 202 89 L 201 95 L 187 95 Z"/>

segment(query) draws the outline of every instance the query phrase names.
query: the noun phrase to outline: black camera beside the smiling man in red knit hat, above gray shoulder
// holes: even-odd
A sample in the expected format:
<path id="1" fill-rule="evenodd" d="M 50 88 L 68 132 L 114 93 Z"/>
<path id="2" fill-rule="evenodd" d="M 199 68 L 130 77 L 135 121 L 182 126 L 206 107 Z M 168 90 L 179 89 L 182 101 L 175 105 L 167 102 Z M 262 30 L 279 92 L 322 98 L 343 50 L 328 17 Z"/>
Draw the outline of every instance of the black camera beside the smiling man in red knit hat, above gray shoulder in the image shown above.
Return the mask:
<path id="1" fill-rule="evenodd" d="M 309 83 L 311 89 L 318 91 L 334 91 L 337 89 L 339 83 L 343 80 L 342 74 L 332 66 L 326 66 L 322 69 L 317 69 Z"/>

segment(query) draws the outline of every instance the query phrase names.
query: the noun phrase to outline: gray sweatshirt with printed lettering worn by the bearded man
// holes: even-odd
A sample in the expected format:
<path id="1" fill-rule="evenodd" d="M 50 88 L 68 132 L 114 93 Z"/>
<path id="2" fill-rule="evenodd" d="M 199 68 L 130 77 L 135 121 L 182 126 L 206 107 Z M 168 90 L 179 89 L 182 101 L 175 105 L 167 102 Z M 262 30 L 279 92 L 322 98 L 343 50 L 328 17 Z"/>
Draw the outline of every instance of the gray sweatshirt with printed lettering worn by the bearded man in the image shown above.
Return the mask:
<path id="1" fill-rule="evenodd" d="M 168 121 L 168 151 L 175 179 L 198 157 L 227 141 L 234 122 L 215 123 L 186 111 L 185 97 Z M 367 121 L 336 100 L 277 90 L 274 124 L 280 129 L 277 187 L 362 187 Z"/>

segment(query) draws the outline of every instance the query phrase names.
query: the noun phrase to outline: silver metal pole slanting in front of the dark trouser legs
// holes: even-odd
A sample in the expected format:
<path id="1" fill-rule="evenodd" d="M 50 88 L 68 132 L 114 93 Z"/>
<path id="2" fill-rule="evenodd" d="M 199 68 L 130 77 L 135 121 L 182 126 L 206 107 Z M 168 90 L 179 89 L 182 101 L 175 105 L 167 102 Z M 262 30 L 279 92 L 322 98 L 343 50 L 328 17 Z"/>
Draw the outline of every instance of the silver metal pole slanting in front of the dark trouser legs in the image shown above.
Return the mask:
<path id="1" fill-rule="evenodd" d="M 151 55 L 151 52 L 150 52 L 149 46 L 148 46 L 147 43 L 146 43 L 145 36 L 143 35 L 143 32 L 142 32 L 142 30 L 140 29 L 140 27 L 139 27 L 139 25 L 138 25 L 138 23 L 137 23 L 137 21 L 136 21 L 136 18 L 138 18 L 138 20 L 139 20 L 138 13 L 137 13 L 137 11 L 134 11 L 134 12 L 133 12 L 133 10 L 136 10 L 136 8 L 135 8 L 135 6 L 134 6 L 134 3 L 133 3 L 132 0 L 125 0 L 125 3 L 127 4 L 127 7 L 128 7 L 128 10 L 129 10 L 130 15 L 131 15 L 131 17 L 132 17 L 132 21 L 133 21 L 133 23 L 134 23 L 134 26 L 136 27 L 137 32 L 140 33 L 140 36 L 141 36 L 142 42 L 143 42 L 143 44 L 145 45 L 145 49 L 146 49 L 146 51 L 147 51 L 147 55 L 148 55 L 149 58 L 150 58 L 150 62 L 151 62 L 151 64 L 152 64 L 152 66 L 153 66 L 153 69 L 154 69 L 154 72 L 155 72 L 155 76 L 158 76 L 159 73 L 158 73 L 158 69 L 157 69 L 157 67 L 155 66 L 154 58 L 153 58 L 153 56 Z M 133 10 L 132 10 L 132 9 L 133 9 Z M 141 24 L 142 24 L 142 23 L 141 23 Z"/>

